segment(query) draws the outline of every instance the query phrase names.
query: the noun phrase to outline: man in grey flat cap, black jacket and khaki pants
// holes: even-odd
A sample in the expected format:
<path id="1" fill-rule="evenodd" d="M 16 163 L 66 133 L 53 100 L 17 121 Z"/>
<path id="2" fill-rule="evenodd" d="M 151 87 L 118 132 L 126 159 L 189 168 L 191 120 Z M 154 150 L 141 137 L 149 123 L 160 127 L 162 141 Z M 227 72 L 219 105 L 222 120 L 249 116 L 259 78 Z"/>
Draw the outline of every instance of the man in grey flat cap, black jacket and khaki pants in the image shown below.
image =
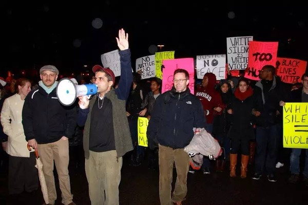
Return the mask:
<path id="1" fill-rule="evenodd" d="M 68 138 L 74 133 L 76 110 L 74 106 L 61 105 L 57 99 L 58 75 L 59 70 L 54 66 L 43 66 L 40 69 L 41 81 L 38 82 L 38 89 L 32 90 L 25 98 L 23 126 L 28 144 L 38 150 L 43 162 L 49 204 L 54 204 L 56 200 L 54 161 L 59 176 L 62 203 L 74 205 L 68 174 Z"/>

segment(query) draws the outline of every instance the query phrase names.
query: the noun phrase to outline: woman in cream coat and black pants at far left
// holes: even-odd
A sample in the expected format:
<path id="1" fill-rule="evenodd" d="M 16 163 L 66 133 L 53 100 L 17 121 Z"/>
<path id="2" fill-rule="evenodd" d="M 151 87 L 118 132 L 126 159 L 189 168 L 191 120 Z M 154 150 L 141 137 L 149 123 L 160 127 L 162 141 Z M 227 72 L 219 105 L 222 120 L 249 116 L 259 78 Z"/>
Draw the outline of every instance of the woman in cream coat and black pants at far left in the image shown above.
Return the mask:
<path id="1" fill-rule="evenodd" d="M 9 194 L 20 194 L 24 190 L 32 192 L 38 188 L 34 152 L 27 149 L 28 142 L 22 124 L 24 101 L 31 91 L 28 79 L 20 78 L 15 84 L 16 94 L 5 99 L 1 111 L 3 131 L 8 135 L 9 154 Z"/>

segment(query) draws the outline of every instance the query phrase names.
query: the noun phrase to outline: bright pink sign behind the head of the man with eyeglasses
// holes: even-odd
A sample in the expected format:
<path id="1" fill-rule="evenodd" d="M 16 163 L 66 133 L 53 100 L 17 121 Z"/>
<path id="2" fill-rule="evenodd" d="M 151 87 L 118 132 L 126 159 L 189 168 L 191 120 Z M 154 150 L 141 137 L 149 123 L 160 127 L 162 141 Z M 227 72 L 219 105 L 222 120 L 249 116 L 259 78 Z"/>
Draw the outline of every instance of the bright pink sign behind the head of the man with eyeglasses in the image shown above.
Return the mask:
<path id="1" fill-rule="evenodd" d="M 185 69 L 189 73 L 189 84 L 188 88 L 190 93 L 194 94 L 194 58 L 179 58 L 179 59 L 170 59 L 163 60 L 163 87 L 162 93 L 171 90 L 173 86 L 173 76 L 176 69 Z"/>

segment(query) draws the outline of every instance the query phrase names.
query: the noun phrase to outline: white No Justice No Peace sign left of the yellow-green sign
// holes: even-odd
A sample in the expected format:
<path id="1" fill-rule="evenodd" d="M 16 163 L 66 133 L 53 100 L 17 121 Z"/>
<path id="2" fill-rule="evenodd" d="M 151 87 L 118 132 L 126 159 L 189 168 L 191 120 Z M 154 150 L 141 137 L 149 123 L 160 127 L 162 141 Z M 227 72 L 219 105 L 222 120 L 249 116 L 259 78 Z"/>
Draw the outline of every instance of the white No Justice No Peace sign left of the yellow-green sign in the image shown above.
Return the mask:
<path id="1" fill-rule="evenodd" d="M 141 79 L 156 76 L 155 55 L 149 55 L 136 59 L 136 72 L 141 71 Z"/>

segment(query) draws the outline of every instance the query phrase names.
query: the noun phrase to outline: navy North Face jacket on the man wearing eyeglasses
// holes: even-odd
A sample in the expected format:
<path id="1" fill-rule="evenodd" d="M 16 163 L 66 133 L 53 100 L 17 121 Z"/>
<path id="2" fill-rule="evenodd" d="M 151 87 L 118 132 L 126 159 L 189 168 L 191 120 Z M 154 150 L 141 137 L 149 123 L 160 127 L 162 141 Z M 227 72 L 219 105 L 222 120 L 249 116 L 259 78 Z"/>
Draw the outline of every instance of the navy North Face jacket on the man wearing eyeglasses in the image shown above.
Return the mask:
<path id="1" fill-rule="evenodd" d="M 156 99 L 147 137 L 166 147 L 184 148 L 194 136 L 194 127 L 205 127 L 200 100 L 188 88 L 178 93 L 173 87 Z"/>

